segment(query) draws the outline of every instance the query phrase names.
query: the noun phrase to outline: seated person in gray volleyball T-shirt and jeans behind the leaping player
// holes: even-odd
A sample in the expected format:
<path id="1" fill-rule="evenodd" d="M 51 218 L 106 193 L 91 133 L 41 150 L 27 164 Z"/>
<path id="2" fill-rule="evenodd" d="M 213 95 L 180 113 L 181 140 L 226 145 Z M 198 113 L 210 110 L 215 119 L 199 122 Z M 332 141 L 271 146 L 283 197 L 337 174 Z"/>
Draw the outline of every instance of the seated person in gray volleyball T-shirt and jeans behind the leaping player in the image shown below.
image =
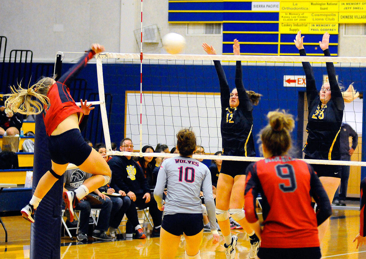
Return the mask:
<path id="1" fill-rule="evenodd" d="M 92 174 L 83 172 L 79 168 L 66 170 L 64 173 L 64 191 L 75 191 L 76 188 L 80 187 L 84 183 L 84 181 L 90 176 L 92 176 Z M 107 231 L 109 225 L 112 201 L 111 199 L 109 199 L 109 197 L 98 191 L 98 189 L 95 190 L 94 193 L 96 193 L 97 195 L 90 193 L 89 195 L 92 196 L 90 197 L 91 199 L 82 199 L 76 204 L 76 207 L 74 209 L 81 211 L 79 217 L 79 232 L 77 238 L 79 241 L 87 241 L 90 210 L 101 209 L 99 213 L 98 224 L 93 231 L 93 237 L 95 239 L 110 241 L 113 238 L 111 236 L 108 236 L 105 231 Z M 93 204 L 93 197 L 95 198 L 95 202 L 100 202 L 99 205 Z"/>

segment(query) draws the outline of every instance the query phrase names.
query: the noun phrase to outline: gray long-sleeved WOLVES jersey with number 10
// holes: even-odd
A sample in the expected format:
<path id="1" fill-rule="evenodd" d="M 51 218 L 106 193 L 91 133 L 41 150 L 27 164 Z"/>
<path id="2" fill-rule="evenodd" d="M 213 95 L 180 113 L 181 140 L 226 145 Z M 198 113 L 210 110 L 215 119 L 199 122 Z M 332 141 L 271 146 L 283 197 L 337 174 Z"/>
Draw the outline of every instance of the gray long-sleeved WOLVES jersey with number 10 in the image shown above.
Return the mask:
<path id="1" fill-rule="evenodd" d="M 199 198 L 202 187 L 209 218 L 214 220 L 211 173 L 205 164 L 182 156 L 164 160 L 154 190 L 158 205 L 161 205 L 165 185 L 167 185 L 167 198 L 164 214 L 202 213 L 202 202 Z M 212 220 L 210 219 L 210 223 Z M 216 229 L 216 222 L 214 226 Z"/>

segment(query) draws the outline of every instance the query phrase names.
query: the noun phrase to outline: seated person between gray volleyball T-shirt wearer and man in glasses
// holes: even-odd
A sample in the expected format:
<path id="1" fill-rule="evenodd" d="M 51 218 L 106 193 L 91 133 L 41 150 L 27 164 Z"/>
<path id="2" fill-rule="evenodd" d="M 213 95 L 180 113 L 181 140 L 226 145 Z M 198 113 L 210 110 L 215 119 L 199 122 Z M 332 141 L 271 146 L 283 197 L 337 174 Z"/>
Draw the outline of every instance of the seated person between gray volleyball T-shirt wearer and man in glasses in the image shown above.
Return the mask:
<path id="1" fill-rule="evenodd" d="M 98 153 L 102 155 L 105 161 L 108 162 L 111 159 L 111 157 L 108 157 L 106 155 L 107 149 L 105 148 L 105 145 L 103 143 L 96 144 L 95 148 L 96 151 L 98 151 Z M 102 193 L 107 193 L 107 195 L 112 195 L 113 193 L 115 193 L 115 189 L 111 188 L 110 184 L 111 181 L 109 181 L 109 183 L 105 186 L 98 188 L 98 190 Z M 119 197 L 110 196 L 109 199 L 111 199 L 112 201 L 111 216 L 109 219 L 109 235 L 111 235 L 111 237 L 115 237 L 116 234 L 118 234 L 117 228 L 121 224 L 124 214 L 127 212 L 128 208 L 131 205 L 131 199 L 128 198 L 126 194 Z"/>

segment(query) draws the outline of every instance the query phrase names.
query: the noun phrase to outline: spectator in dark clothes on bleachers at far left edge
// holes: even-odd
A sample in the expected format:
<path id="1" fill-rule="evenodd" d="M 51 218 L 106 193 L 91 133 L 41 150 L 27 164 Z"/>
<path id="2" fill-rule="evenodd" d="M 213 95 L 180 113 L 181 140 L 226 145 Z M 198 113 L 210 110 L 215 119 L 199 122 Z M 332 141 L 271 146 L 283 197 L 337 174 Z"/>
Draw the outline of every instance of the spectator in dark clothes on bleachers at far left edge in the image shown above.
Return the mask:
<path id="1" fill-rule="evenodd" d="M 12 113 L 11 110 L 5 109 L 4 101 L 2 98 L 0 98 L 0 135 L 19 135 L 22 125 L 23 115 L 20 113 Z"/>

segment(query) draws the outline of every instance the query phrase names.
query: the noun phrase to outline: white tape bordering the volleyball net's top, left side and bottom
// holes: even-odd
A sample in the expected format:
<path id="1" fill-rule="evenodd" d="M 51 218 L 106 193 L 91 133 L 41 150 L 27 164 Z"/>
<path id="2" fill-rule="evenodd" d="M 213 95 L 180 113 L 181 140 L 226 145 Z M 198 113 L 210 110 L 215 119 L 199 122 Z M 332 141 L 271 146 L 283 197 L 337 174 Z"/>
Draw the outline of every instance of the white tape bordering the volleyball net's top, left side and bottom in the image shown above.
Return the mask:
<path id="1" fill-rule="evenodd" d="M 97 69 L 98 69 L 98 80 L 102 76 L 101 65 L 102 60 L 113 58 L 113 63 L 123 62 L 128 63 L 128 60 L 140 60 L 142 62 L 153 64 L 154 61 L 165 60 L 165 64 L 188 64 L 192 63 L 193 60 L 202 61 L 202 64 L 212 64 L 212 60 L 223 60 L 223 61 L 248 61 L 253 62 L 255 65 L 261 65 L 259 63 L 263 62 L 274 62 L 272 65 L 281 65 L 284 63 L 292 63 L 292 65 L 301 66 L 301 64 L 295 64 L 295 62 L 311 62 L 314 66 L 316 63 L 333 62 L 335 66 L 346 66 L 346 67 L 359 67 L 362 63 L 366 64 L 366 57 L 314 57 L 314 56 L 234 56 L 234 55 L 186 55 L 186 54 L 134 54 L 134 53 L 99 53 L 96 55 L 97 59 Z M 206 62 L 206 63 L 205 63 Z M 258 62 L 258 64 L 256 64 Z M 107 61 L 108 63 L 108 61 Z M 276 64 L 277 63 L 277 64 Z M 362 66 L 366 66 L 363 64 Z M 250 64 L 247 64 L 250 65 Z M 103 85 L 99 84 L 99 89 L 104 93 L 104 89 L 101 89 Z M 101 105 L 105 105 L 104 103 Z M 102 114 L 103 117 L 103 114 Z M 106 146 L 107 155 L 120 155 L 120 156 L 154 156 L 154 157 L 175 157 L 178 154 L 168 154 L 168 153 L 142 153 L 142 152 L 120 152 L 111 151 L 111 145 L 108 143 L 109 140 L 109 128 L 108 124 L 103 121 L 104 134 L 106 135 Z M 141 147 L 140 147 L 141 148 Z M 234 160 L 234 161 L 258 161 L 263 159 L 263 157 L 241 157 L 241 156 L 214 156 L 214 155 L 193 155 L 194 159 L 220 159 L 220 160 Z M 338 160 L 310 160 L 301 159 L 307 163 L 312 164 L 337 164 L 337 165 L 354 165 L 354 166 L 366 166 L 366 162 L 362 161 L 338 161 Z"/>

